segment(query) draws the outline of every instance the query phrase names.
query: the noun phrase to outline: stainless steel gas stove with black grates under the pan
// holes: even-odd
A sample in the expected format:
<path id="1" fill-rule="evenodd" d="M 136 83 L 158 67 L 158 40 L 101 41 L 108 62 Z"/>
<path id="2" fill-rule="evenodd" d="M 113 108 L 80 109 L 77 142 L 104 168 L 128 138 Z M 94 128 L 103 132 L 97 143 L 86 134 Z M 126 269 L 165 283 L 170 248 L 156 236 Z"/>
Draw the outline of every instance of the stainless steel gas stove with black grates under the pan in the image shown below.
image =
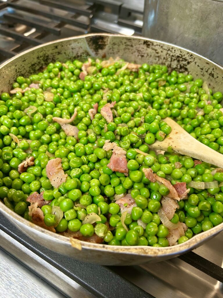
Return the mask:
<path id="1" fill-rule="evenodd" d="M 0 63 L 89 32 L 141 35 L 144 1 L 0 0 Z M 0 297 L 223 296 L 223 232 L 193 252 L 141 266 L 99 266 L 55 253 L 0 217 Z"/>

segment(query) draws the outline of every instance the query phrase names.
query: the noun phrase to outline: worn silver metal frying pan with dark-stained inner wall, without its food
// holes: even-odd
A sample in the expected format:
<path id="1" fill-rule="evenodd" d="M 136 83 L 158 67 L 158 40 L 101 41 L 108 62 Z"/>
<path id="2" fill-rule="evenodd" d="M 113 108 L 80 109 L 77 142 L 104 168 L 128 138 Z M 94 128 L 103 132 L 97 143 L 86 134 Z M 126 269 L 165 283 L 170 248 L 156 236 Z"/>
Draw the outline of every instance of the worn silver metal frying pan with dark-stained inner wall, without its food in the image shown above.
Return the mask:
<path id="1" fill-rule="evenodd" d="M 47 63 L 91 57 L 117 57 L 135 63 L 164 64 L 169 70 L 190 73 L 220 90 L 223 68 L 216 63 L 172 44 L 139 37 L 111 34 L 88 34 L 53 41 L 27 50 L 0 66 L 0 92 L 9 91 L 16 77 L 37 73 Z M 185 140 L 186 141 L 186 140 Z M 183 146 L 183 144 L 182 144 Z M 222 157 L 223 158 L 223 157 Z M 109 246 L 74 240 L 47 231 L 27 221 L 0 201 L 0 211 L 26 235 L 43 246 L 69 257 L 101 265 L 136 265 L 177 257 L 210 240 L 223 230 L 223 223 L 190 240 L 171 247 Z"/>

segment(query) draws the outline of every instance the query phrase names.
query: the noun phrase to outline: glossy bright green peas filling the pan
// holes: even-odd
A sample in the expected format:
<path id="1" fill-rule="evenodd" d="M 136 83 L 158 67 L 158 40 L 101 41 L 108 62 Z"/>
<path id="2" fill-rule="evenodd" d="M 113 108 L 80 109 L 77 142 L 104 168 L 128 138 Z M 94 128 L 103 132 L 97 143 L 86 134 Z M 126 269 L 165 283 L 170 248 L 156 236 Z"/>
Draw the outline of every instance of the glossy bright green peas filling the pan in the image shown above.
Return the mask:
<path id="1" fill-rule="evenodd" d="M 223 114 L 219 111 L 222 93 L 212 94 L 210 90 L 211 104 L 206 105 L 209 95 L 202 89 L 201 79 L 193 80 L 191 75 L 175 71 L 168 74 L 166 66 L 147 63 L 138 72 L 125 69 L 116 75 L 124 64 L 120 60 L 102 68 L 100 61 L 96 63 L 92 59 L 92 75 L 82 81 L 79 79 L 81 61 L 57 61 L 43 72 L 29 78 L 19 76 L 13 83 L 13 88 L 23 90 L 31 83 L 38 83 L 39 89 L 1 94 L 0 198 L 7 207 L 32 220 L 26 199 L 33 192 L 44 192 L 43 198 L 51 201 L 41 208 L 45 224 L 55 226 L 53 206 L 59 206 L 64 214 L 56 232 L 69 229 L 80 231 L 85 237 L 95 233 L 109 245 L 164 247 L 169 245 L 166 238 L 169 230 L 161 224 L 157 212 L 162 196 L 168 195 L 169 189 L 164 184 L 150 182 L 142 171 L 147 167 L 172 184 L 186 182 L 190 188 L 188 199 L 178 202 L 179 209 L 171 219 L 173 223 L 180 221 L 187 225 L 185 236 L 178 240 L 183 243 L 223 221 L 223 186 L 199 190 L 188 184 L 192 180 L 216 180 L 220 184 L 223 173 L 212 175 L 212 165 L 202 162 L 194 166 L 189 156 L 172 152 L 156 155 L 149 145 L 156 139 L 162 141 L 171 132 L 162 120 L 168 116 L 205 145 L 222 153 Z M 191 85 L 189 92 L 186 84 Z M 54 94 L 50 102 L 45 101 L 43 93 L 49 88 Z M 116 101 L 117 114 L 113 122 L 107 123 L 100 109 L 111 101 Z M 95 103 L 99 105 L 98 113 L 91 120 L 88 111 Z M 27 115 L 24 110 L 29 106 L 37 110 Z M 204 116 L 196 116 L 197 107 L 203 108 Z M 72 124 L 79 130 L 78 140 L 67 136 L 52 119 L 69 119 L 75 108 L 78 114 Z M 19 145 L 9 134 L 21 139 Z M 107 166 L 112 150 L 103 149 L 106 140 L 126 150 L 128 177 L 112 172 Z M 148 155 L 136 152 L 135 148 Z M 25 173 L 18 173 L 18 165 L 30 156 L 34 157 L 34 166 L 28 167 Z M 68 175 L 59 188 L 52 187 L 45 169 L 49 159 L 54 157 L 62 159 L 62 168 Z M 176 162 L 182 167 L 178 168 Z M 125 193 L 131 193 L 137 205 L 125 217 L 128 231 L 121 222 L 120 207 L 114 201 L 115 195 Z M 101 220 L 82 224 L 92 212 Z M 137 223 L 139 219 L 145 228 Z"/>

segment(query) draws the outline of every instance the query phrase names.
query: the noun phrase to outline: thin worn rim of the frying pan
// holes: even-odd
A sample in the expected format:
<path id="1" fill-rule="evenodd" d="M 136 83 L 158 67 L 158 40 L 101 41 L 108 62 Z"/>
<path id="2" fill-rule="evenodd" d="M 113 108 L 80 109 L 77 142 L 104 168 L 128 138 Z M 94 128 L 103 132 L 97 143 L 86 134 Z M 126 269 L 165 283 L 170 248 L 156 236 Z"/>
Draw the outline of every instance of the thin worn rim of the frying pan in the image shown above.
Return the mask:
<path id="1" fill-rule="evenodd" d="M 204 56 L 197 54 L 189 49 L 186 49 L 186 48 L 183 48 L 180 46 L 175 46 L 174 44 L 171 44 L 171 43 L 159 41 L 156 39 L 142 38 L 142 37 L 138 37 L 138 36 L 124 36 L 121 34 L 107 34 L 107 33 L 90 33 L 90 34 L 86 34 L 86 35 L 78 35 L 75 37 L 62 38 L 62 39 L 58 39 L 56 41 L 51 41 L 51 42 L 45 43 L 43 45 L 35 46 L 31 49 L 28 49 L 28 50 L 16 55 L 15 57 L 10 58 L 9 60 L 5 61 L 4 63 L 2 63 L 0 65 L 0 70 L 2 68 L 4 68 L 5 66 L 7 66 L 7 64 L 11 63 L 12 61 L 14 61 L 14 60 L 18 59 L 19 57 L 22 57 L 23 55 L 26 55 L 28 53 L 32 53 L 36 49 L 40 49 L 40 48 L 48 46 L 48 45 L 56 44 L 58 42 L 64 42 L 64 41 L 70 41 L 70 40 L 76 40 L 76 39 L 85 39 L 85 38 L 94 37 L 94 36 L 110 36 L 110 37 L 122 37 L 122 38 L 125 37 L 128 39 L 140 39 L 140 40 L 152 41 L 152 42 L 156 42 L 159 44 L 172 46 L 174 48 L 181 49 L 183 51 L 186 51 L 193 55 L 196 55 L 197 57 L 200 57 L 200 58 L 208 61 L 212 65 L 215 65 L 216 67 L 223 70 L 222 66 L 213 62 L 212 60 L 205 58 Z M 9 216 L 11 221 L 14 221 L 14 222 L 19 221 L 21 224 L 29 226 L 29 228 L 35 229 L 38 233 L 41 233 L 42 235 L 47 235 L 47 237 L 50 237 L 51 240 L 62 241 L 65 245 L 71 246 L 69 238 L 59 235 L 59 234 L 55 234 L 51 231 L 48 231 L 44 228 L 41 228 L 41 227 L 33 224 L 32 222 L 30 222 L 30 221 L 22 218 L 20 215 L 16 214 L 14 211 L 10 210 L 1 201 L 0 201 L 0 211 L 3 214 L 7 214 L 7 216 Z M 208 231 L 201 232 L 200 234 L 193 236 L 191 239 L 187 240 L 184 243 L 178 244 L 176 246 L 168 246 L 168 247 L 110 246 L 110 245 L 106 245 L 106 244 L 89 243 L 89 242 L 85 242 L 85 241 L 81 241 L 81 240 L 77 240 L 77 243 L 81 244 L 82 249 L 91 249 L 91 250 L 93 249 L 93 250 L 97 250 L 100 252 L 106 251 L 106 252 L 112 252 L 112 253 L 125 253 L 125 254 L 131 254 L 131 255 L 139 255 L 140 254 L 141 256 L 145 256 L 145 257 L 158 257 L 158 256 L 161 257 L 161 256 L 171 256 L 171 255 L 183 254 L 183 253 L 199 246 L 202 242 L 204 242 L 208 238 L 211 238 L 211 237 L 217 235 L 221 231 L 223 231 L 223 223 L 219 224 L 218 226 L 213 227 L 212 229 L 210 229 Z"/>

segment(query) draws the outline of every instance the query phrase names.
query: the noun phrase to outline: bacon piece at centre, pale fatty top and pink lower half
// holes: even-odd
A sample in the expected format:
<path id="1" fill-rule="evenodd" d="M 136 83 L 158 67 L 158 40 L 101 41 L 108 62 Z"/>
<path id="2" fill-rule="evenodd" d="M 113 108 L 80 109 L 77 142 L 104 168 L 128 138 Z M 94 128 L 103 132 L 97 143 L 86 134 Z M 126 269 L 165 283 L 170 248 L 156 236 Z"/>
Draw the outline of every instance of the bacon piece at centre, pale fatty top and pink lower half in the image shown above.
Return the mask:
<path id="1" fill-rule="evenodd" d="M 123 148 L 117 146 L 116 143 L 105 142 L 103 149 L 113 150 L 112 157 L 108 164 L 109 169 L 113 172 L 125 173 L 128 176 L 127 159 L 125 157 L 126 151 Z"/>

